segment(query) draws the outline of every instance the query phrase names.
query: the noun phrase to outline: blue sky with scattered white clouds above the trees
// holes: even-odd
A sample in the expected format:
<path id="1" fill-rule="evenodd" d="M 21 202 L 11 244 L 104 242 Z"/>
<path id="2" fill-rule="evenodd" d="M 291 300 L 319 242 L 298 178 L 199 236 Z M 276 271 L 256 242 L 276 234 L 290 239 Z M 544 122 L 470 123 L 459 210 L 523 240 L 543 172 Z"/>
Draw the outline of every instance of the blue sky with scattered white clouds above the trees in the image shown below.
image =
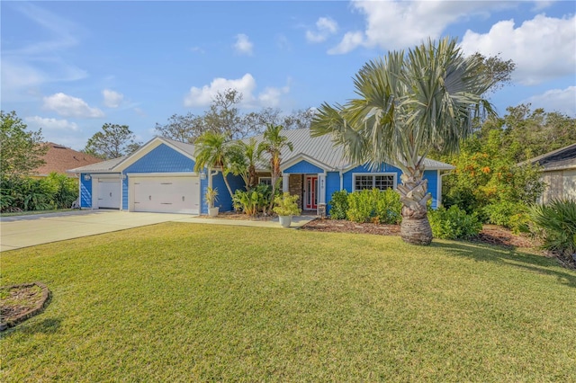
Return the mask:
<path id="1" fill-rule="evenodd" d="M 369 60 L 450 36 L 517 66 L 491 94 L 576 117 L 574 1 L 0 2 L 0 104 L 76 150 L 104 123 L 141 142 L 219 91 L 243 112 L 345 103 Z"/>

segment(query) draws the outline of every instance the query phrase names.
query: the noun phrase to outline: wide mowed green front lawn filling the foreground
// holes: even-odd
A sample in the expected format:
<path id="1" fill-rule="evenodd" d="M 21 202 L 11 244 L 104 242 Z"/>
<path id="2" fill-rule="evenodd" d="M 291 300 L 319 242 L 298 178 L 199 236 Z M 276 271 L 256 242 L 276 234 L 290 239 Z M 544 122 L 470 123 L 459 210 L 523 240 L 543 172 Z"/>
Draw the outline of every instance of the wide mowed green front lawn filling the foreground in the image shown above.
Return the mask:
<path id="1" fill-rule="evenodd" d="M 395 236 L 166 223 L 2 254 L 11 381 L 575 381 L 576 272 Z"/>

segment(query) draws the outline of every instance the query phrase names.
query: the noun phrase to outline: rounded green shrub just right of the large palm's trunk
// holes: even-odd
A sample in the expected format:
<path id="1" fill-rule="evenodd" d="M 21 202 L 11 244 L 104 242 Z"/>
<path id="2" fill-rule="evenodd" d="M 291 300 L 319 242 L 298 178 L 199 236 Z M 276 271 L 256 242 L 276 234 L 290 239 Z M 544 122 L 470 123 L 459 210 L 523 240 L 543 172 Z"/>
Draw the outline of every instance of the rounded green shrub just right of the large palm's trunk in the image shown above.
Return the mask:
<path id="1" fill-rule="evenodd" d="M 465 239 L 477 236 L 482 230 L 482 222 L 475 213 L 467 214 L 457 206 L 431 209 L 428 211 L 428 220 L 432 234 L 437 238 Z"/>

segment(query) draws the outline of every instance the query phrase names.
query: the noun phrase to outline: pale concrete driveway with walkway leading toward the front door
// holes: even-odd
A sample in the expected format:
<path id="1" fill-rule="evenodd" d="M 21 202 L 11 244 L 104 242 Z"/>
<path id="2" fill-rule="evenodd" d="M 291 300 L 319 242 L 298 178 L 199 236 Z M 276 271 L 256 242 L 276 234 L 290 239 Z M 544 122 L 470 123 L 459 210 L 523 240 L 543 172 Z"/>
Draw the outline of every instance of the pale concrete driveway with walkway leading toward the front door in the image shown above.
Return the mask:
<path id="1" fill-rule="evenodd" d="M 311 216 L 294 217 L 292 227 L 301 227 L 313 218 Z M 113 210 L 69 211 L 0 218 L 0 252 L 168 221 L 282 228 L 278 218 L 269 221 L 252 221 L 201 218 L 187 214 L 129 213 Z"/>

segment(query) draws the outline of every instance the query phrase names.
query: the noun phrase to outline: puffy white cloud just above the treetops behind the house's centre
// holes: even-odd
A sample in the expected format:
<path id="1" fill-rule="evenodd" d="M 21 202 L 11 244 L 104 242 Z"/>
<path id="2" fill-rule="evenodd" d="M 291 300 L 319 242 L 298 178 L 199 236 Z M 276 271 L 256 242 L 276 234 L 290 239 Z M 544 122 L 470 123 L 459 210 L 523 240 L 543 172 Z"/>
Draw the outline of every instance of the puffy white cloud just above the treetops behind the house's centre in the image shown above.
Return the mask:
<path id="1" fill-rule="evenodd" d="M 214 78 L 210 85 L 204 85 L 202 88 L 196 86 L 190 88 L 190 92 L 184 97 L 184 106 L 208 106 L 214 100 L 216 94 L 228 89 L 235 89 L 242 94 L 240 107 L 248 109 L 277 107 L 282 101 L 282 96 L 290 93 L 290 79 L 288 79 L 288 84 L 283 87 L 267 86 L 264 91 L 256 95 L 256 79 L 249 73 L 241 78 L 232 80 L 221 77 Z"/>

